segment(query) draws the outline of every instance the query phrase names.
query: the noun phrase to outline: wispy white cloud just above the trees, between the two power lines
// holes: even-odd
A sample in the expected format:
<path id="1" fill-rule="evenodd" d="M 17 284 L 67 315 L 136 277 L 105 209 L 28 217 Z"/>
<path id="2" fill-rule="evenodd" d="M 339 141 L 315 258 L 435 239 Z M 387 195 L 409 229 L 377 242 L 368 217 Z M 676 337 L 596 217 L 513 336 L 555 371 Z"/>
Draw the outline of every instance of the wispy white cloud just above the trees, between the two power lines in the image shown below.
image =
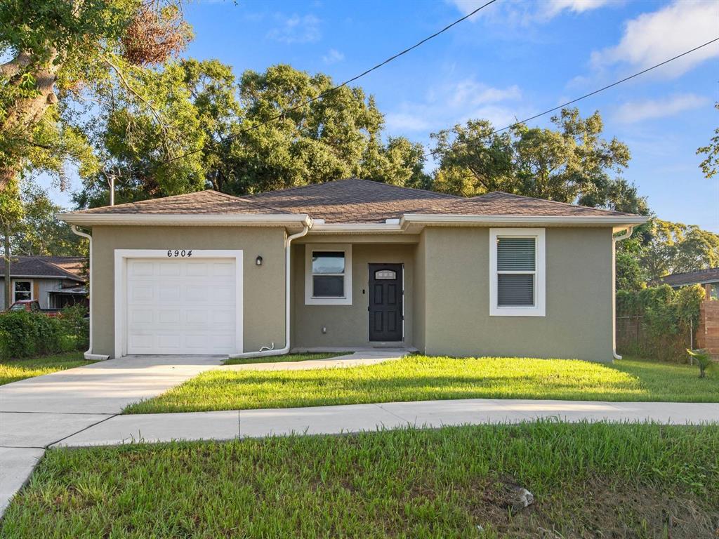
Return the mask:
<path id="1" fill-rule="evenodd" d="M 385 116 L 390 131 L 439 131 L 468 119 L 487 119 L 497 127 L 514 121 L 516 103 L 522 93 L 518 86 L 494 88 L 476 80 L 460 80 L 432 88 L 424 101 L 403 103 Z"/>

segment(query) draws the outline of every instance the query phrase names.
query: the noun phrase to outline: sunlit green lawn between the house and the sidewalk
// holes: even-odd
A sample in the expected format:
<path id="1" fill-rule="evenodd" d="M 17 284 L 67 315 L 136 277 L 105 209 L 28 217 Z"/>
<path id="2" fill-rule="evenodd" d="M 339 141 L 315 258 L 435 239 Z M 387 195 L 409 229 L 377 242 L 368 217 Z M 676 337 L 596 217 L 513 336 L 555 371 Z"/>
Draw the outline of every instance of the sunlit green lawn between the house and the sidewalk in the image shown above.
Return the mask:
<path id="1" fill-rule="evenodd" d="M 243 410 L 464 398 L 719 402 L 719 375 L 697 367 L 624 359 L 407 356 L 397 361 L 303 371 L 200 374 L 125 413 Z"/>

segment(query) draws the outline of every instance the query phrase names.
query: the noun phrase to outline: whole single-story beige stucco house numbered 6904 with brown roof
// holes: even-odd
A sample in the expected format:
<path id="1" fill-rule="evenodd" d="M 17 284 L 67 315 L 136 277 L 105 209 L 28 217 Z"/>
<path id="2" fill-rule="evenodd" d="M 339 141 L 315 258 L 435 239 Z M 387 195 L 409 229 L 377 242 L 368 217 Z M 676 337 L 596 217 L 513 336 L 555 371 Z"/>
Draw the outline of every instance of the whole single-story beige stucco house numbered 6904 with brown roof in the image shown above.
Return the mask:
<path id="1" fill-rule="evenodd" d="M 88 356 L 406 346 L 591 361 L 613 357 L 613 232 L 646 220 L 357 179 L 59 217 L 92 236 Z"/>

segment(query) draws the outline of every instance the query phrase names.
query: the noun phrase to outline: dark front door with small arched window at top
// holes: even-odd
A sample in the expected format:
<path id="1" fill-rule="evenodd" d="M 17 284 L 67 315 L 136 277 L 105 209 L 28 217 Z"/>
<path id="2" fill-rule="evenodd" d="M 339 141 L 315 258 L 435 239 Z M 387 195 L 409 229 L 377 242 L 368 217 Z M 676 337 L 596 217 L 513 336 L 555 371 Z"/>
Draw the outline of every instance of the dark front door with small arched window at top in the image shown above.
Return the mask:
<path id="1" fill-rule="evenodd" d="M 370 264 L 370 341 L 401 341 L 402 264 Z"/>

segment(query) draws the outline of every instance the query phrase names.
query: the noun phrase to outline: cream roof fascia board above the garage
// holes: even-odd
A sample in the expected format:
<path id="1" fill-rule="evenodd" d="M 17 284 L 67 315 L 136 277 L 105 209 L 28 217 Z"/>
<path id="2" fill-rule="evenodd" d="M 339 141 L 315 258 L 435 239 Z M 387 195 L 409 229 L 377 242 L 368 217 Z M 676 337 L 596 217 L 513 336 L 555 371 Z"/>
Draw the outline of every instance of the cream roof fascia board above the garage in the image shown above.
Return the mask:
<path id="1" fill-rule="evenodd" d="M 234 225 L 253 224 L 283 226 L 300 224 L 311 226 L 312 219 L 306 213 L 287 215 L 254 214 L 254 215 L 219 215 L 216 213 L 187 214 L 187 213 L 57 213 L 56 218 L 66 223 L 88 225 L 129 225 L 129 224 L 157 224 L 165 226 L 193 226 L 193 225 Z"/>

